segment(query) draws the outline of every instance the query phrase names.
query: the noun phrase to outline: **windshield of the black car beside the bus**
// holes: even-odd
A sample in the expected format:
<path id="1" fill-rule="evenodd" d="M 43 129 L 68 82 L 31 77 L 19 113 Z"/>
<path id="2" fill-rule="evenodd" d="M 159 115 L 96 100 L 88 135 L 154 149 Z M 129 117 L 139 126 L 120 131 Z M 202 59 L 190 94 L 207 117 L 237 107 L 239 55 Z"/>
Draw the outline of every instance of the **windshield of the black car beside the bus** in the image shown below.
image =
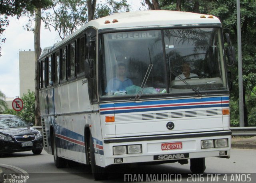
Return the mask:
<path id="1" fill-rule="evenodd" d="M 29 127 L 29 125 L 15 116 L 0 117 L 0 128 Z"/>

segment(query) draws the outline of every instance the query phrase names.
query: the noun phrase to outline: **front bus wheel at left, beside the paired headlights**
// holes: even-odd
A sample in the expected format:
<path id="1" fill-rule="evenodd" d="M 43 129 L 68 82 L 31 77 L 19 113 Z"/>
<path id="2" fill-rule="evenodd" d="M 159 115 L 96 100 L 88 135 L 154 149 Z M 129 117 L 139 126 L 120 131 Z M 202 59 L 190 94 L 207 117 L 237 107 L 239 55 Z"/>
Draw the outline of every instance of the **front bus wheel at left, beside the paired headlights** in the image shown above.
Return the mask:
<path id="1" fill-rule="evenodd" d="M 107 175 L 107 172 L 106 172 L 106 168 L 100 167 L 100 166 L 96 165 L 96 163 L 95 163 L 95 155 L 94 155 L 92 135 L 90 135 L 89 152 L 90 152 L 89 161 L 91 163 L 92 175 L 93 175 L 94 179 L 96 181 L 107 179 L 108 175 Z"/>

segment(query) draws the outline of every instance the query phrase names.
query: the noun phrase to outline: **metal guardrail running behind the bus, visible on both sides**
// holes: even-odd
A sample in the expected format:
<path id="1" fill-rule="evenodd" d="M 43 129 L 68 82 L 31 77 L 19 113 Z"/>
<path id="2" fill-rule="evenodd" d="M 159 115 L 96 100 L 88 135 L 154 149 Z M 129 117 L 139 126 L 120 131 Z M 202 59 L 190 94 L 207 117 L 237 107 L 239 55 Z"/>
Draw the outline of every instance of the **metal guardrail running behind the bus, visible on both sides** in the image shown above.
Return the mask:
<path id="1" fill-rule="evenodd" d="M 42 132 L 41 126 L 33 126 Z M 232 136 L 256 136 L 256 127 L 230 127 Z"/>

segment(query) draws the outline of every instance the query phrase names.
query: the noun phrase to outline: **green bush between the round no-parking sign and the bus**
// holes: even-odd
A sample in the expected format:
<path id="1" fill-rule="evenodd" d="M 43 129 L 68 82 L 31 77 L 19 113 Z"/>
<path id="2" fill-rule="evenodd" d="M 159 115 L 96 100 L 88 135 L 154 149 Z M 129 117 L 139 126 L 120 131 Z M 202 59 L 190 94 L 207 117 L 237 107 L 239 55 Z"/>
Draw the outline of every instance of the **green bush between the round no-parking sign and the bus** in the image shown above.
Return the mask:
<path id="1" fill-rule="evenodd" d="M 28 90 L 28 93 L 23 94 L 21 99 L 23 109 L 18 112 L 18 115 L 24 121 L 35 124 L 35 92 Z"/>

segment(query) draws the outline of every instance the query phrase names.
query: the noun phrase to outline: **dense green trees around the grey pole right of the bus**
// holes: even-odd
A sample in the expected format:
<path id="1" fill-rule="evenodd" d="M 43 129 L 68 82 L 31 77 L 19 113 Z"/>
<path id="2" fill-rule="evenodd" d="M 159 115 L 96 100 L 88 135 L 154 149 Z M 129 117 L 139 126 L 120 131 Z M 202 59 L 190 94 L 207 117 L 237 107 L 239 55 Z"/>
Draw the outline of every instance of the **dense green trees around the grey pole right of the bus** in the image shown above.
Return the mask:
<path id="1" fill-rule="evenodd" d="M 161 9 L 176 10 L 176 0 L 159 0 Z M 196 3 L 199 13 L 211 14 L 220 19 L 222 27 L 230 29 L 233 46 L 237 47 L 236 0 L 181 0 L 182 11 L 195 12 Z M 242 70 L 245 95 L 245 125 L 256 126 L 256 1 L 240 0 L 242 35 Z M 239 126 L 238 63 L 228 67 L 232 73 L 233 87 L 230 92 L 231 126 Z M 246 120 L 248 119 L 248 124 Z"/>

